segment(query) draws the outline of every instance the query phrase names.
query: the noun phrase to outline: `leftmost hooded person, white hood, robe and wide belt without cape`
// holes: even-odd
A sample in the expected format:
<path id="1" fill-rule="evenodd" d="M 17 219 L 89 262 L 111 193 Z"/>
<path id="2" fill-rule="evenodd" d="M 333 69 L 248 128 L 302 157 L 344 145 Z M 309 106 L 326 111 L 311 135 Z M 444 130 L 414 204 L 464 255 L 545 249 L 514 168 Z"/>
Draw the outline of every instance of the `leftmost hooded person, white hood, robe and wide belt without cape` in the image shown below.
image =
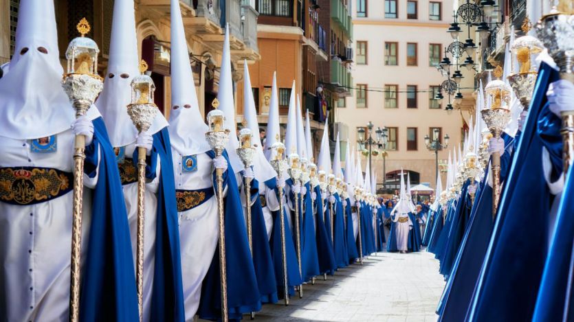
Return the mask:
<path id="1" fill-rule="evenodd" d="M 87 147 L 82 264 L 88 254 L 91 201 L 96 196 L 93 189 L 100 178 L 100 161 L 109 148 L 103 148 L 103 138 L 94 135 L 93 121 L 100 117 L 98 108 L 91 106 L 87 115 L 75 119 L 61 84 L 63 68 L 57 34 L 54 1 L 20 2 L 10 73 L 0 80 L 3 321 L 68 320 L 75 137 L 84 135 Z M 20 172 L 14 172 L 14 168 Z M 92 168 L 90 176 L 86 174 L 88 168 Z M 124 215 L 124 209 L 118 213 Z M 127 237 L 127 222 L 123 223 L 126 235 L 118 234 L 117 240 L 109 241 L 115 246 Z M 129 245 L 125 246 L 131 251 Z M 113 261 L 101 264 L 114 267 Z M 128 275 L 135 279 L 133 272 Z M 130 291 L 126 292 L 124 295 L 129 297 Z M 136 303 L 135 297 L 129 300 Z M 137 314 L 137 306 L 134 308 Z"/>

